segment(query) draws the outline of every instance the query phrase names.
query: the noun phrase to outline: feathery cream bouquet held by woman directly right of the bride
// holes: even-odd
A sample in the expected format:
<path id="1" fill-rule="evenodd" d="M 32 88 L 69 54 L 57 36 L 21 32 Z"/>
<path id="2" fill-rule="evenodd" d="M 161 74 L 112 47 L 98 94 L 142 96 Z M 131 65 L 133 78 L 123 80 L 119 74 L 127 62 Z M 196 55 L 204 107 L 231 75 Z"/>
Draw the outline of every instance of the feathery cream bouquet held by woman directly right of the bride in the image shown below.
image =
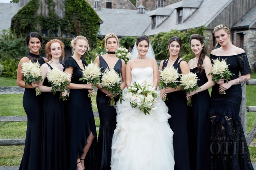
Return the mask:
<path id="1" fill-rule="evenodd" d="M 164 89 L 166 87 L 178 88 L 178 78 L 180 77 L 179 72 L 174 67 L 165 67 L 164 70 L 160 71 L 160 87 L 159 89 Z M 167 94 L 163 101 L 168 101 Z"/>

